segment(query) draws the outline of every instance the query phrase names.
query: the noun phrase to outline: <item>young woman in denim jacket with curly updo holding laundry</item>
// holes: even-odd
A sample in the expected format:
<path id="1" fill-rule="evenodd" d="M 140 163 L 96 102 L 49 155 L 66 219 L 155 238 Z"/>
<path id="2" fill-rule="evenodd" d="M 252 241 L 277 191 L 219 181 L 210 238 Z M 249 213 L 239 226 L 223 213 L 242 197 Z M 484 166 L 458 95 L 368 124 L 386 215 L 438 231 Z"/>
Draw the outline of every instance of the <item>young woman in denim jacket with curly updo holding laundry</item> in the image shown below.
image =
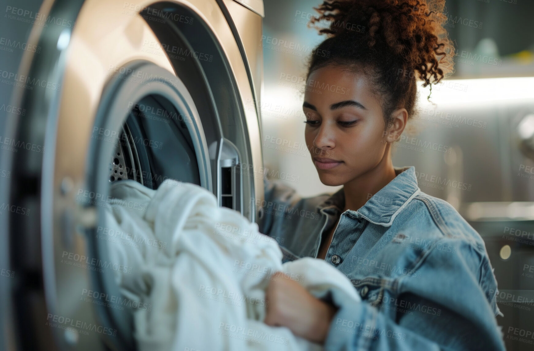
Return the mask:
<path id="1" fill-rule="evenodd" d="M 271 280 L 265 323 L 328 350 L 504 350 L 481 236 L 419 189 L 413 166 L 391 162 L 391 143 L 414 114 L 416 78 L 425 87 L 453 69 L 444 2 L 327 0 L 316 9 L 311 23 L 331 26 L 310 61 L 304 134 L 321 182 L 343 188 L 301 198 L 265 181 L 260 230 L 286 261 L 339 268 L 363 301 L 317 299 Z"/>

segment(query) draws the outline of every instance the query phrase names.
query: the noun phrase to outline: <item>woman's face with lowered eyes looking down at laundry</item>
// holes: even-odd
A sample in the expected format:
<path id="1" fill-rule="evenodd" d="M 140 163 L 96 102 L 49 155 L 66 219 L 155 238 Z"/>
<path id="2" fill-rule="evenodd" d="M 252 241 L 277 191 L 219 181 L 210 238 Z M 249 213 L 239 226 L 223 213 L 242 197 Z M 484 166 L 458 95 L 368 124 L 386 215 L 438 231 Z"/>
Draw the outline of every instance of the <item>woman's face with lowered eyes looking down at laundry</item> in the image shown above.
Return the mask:
<path id="1" fill-rule="evenodd" d="M 382 108 L 363 74 L 335 66 L 313 71 L 303 110 L 306 144 L 323 184 L 345 184 L 386 157 Z"/>

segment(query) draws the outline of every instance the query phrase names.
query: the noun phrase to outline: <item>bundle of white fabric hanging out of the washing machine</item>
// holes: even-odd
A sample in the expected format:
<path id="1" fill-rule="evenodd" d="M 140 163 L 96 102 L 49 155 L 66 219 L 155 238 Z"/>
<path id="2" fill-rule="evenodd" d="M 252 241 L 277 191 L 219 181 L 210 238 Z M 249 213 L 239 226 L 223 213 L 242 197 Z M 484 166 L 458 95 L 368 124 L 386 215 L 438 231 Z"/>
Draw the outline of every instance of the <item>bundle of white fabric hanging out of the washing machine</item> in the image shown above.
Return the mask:
<path id="1" fill-rule="evenodd" d="M 285 327 L 263 323 L 271 275 L 323 297 L 341 289 L 360 301 L 351 282 L 324 260 L 281 264 L 276 241 L 258 233 L 237 211 L 191 183 L 167 179 L 158 190 L 135 181 L 111 187 L 116 198 L 109 231 L 128 233 L 137 245 L 108 241 L 123 295 L 151 306 L 133 312 L 139 350 L 321 350 Z"/>

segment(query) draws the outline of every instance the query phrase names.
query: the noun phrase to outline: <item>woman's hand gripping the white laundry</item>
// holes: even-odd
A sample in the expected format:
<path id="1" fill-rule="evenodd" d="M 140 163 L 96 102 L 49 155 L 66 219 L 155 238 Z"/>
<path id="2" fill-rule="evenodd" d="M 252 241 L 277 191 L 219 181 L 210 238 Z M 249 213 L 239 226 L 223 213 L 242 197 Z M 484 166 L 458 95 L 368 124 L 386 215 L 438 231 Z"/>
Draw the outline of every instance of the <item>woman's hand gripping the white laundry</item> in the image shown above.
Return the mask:
<path id="1" fill-rule="evenodd" d="M 286 326 L 296 336 L 324 344 L 337 309 L 311 295 L 282 272 L 271 276 L 265 293 L 265 324 Z"/>

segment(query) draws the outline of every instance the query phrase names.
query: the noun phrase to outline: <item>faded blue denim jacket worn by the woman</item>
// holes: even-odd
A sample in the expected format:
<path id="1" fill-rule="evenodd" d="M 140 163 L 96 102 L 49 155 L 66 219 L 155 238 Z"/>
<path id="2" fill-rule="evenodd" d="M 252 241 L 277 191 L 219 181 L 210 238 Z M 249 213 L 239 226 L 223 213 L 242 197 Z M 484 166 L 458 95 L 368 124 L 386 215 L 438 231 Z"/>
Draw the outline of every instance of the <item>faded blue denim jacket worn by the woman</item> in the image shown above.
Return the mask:
<path id="1" fill-rule="evenodd" d="M 446 201 L 423 193 L 415 167 L 358 210 L 344 192 L 301 198 L 264 180 L 260 232 L 277 240 L 284 262 L 317 257 L 337 218 L 325 260 L 354 284 L 362 303 L 340 292 L 326 350 L 504 350 L 497 281 L 481 236 Z"/>

